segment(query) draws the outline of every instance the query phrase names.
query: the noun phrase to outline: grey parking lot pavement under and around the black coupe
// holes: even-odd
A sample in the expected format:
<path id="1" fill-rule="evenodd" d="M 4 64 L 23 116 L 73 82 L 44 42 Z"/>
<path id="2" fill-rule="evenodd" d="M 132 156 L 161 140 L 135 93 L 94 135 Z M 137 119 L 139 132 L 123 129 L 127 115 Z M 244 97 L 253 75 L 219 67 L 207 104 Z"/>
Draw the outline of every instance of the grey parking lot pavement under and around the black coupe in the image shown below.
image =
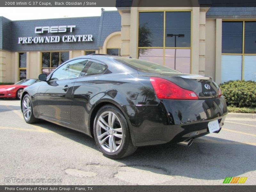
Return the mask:
<path id="1" fill-rule="evenodd" d="M 142 147 L 112 160 L 80 132 L 45 121 L 26 124 L 18 100 L 0 100 L 0 117 L 0 185 L 223 185 L 226 177 L 247 180 L 225 185 L 256 183 L 255 119 L 227 118 L 220 133 L 198 138 L 190 147 Z"/>

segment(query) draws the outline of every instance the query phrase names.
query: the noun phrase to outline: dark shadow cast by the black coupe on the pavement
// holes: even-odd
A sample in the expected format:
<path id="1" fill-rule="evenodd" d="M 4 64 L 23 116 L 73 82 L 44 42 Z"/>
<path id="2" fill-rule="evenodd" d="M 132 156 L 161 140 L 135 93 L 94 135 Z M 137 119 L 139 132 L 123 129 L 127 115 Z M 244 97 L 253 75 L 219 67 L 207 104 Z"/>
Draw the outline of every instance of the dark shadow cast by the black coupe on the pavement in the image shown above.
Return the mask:
<path id="1" fill-rule="evenodd" d="M 93 138 L 46 121 L 35 124 L 68 139 L 98 150 Z M 138 170 L 170 176 L 184 176 L 204 180 L 224 180 L 256 170 L 256 146 L 231 140 L 204 136 L 194 140 L 190 147 L 167 143 L 140 147 L 131 156 L 119 160 Z M 102 155 L 102 158 L 107 158 Z"/>

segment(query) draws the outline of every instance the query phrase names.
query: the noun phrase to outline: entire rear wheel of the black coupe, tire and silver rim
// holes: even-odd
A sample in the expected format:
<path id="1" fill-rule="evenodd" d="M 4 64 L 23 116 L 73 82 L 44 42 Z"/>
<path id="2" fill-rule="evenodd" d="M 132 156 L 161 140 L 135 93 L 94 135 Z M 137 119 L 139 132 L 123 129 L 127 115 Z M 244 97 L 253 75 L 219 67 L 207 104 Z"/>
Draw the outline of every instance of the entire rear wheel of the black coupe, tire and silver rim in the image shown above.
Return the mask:
<path id="1" fill-rule="evenodd" d="M 127 120 L 116 106 L 105 105 L 94 119 L 94 138 L 102 153 L 113 159 L 129 156 L 136 151 Z"/>

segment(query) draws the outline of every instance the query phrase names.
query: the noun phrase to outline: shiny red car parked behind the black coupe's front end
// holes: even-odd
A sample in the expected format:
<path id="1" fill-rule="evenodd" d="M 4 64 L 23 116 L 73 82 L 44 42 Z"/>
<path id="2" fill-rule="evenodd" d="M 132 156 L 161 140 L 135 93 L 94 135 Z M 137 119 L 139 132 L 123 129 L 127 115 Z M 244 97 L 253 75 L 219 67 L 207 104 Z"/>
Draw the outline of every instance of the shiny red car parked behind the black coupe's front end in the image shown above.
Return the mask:
<path id="1" fill-rule="evenodd" d="M 13 85 L 0 85 L 0 98 L 20 99 L 23 89 L 36 82 L 39 82 L 39 80 L 23 79 Z"/>

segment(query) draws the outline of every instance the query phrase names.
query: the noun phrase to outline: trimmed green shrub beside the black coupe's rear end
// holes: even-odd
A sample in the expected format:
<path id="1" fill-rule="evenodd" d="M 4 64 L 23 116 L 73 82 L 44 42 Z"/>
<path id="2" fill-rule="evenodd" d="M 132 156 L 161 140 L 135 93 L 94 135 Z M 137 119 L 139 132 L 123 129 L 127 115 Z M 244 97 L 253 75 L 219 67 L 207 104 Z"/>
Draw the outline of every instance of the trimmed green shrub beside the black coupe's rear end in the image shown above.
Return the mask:
<path id="1" fill-rule="evenodd" d="M 228 81 L 220 84 L 227 105 L 231 107 L 256 107 L 255 81 Z"/>

